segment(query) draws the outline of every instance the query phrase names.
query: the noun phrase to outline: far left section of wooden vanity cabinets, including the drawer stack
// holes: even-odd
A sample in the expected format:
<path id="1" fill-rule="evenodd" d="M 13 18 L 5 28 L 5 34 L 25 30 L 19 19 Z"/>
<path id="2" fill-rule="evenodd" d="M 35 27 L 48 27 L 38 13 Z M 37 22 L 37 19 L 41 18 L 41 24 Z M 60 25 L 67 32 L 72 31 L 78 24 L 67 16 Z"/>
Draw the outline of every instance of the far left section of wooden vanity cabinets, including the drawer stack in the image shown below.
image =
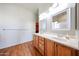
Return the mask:
<path id="1" fill-rule="evenodd" d="M 43 37 L 34 35 L 33 36 L 33 46 L 41 53 L 41 55 L 45 55 L 45 39 Z"/>

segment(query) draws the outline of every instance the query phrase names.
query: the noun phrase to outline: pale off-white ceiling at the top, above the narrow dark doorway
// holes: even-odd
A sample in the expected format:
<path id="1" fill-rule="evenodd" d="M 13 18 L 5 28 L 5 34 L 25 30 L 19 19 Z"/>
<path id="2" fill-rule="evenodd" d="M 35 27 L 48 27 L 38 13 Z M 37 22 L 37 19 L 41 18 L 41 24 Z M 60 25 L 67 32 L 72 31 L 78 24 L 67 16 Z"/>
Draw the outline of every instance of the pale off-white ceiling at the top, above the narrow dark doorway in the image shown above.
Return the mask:
<path id="1" fill-rule="evenodd" d="M 52 6 L 52 3 L 18 3 L 18 5 L 21 5 L 34 13 L 36 13 L 37 9 L 39 9 L 40 14 L 48 10 L 48 8 Z"/>

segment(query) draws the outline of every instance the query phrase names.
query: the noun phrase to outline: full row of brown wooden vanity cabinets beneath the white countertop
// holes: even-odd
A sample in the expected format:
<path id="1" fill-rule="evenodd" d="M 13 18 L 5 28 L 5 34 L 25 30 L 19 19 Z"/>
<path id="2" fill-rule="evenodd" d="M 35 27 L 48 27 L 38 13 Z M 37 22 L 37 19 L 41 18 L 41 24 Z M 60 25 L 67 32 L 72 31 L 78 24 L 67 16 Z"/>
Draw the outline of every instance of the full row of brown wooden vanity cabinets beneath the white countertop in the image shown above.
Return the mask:
<path id="1" fill-rule="evenodd" d="M 33 45 L 43 56 L 79 56 L 79 50 L 37 35 L 33 37 Z"/>

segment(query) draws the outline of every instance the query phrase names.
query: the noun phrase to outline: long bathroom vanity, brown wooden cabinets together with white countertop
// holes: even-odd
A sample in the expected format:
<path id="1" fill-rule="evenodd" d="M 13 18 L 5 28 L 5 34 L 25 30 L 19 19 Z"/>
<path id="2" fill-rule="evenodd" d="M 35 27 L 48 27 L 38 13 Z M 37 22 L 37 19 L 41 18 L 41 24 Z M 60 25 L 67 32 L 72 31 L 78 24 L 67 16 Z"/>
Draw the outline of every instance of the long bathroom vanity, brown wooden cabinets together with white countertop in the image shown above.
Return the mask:
<path id="1" fill-rule="evenodd" d="M 35 33 L 33 36 L 33 45 L 43 56 L 77 56 L 79 47 L 76 44 L 64 41 L 56 37 L 45 34 Z"/>

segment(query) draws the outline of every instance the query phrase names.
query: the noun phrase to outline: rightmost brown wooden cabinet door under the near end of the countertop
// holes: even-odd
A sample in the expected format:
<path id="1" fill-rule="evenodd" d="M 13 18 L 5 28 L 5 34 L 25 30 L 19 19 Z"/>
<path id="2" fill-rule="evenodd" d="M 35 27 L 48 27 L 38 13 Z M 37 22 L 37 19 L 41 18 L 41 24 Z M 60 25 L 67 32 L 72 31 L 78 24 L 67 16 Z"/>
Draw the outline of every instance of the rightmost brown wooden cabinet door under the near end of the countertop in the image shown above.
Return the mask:
<path id="1" fill-rule="evenodd" d="M 75 51 L 72 48 L 57 45 L 57 56 L 72 56 L 75 55 Z"/>

